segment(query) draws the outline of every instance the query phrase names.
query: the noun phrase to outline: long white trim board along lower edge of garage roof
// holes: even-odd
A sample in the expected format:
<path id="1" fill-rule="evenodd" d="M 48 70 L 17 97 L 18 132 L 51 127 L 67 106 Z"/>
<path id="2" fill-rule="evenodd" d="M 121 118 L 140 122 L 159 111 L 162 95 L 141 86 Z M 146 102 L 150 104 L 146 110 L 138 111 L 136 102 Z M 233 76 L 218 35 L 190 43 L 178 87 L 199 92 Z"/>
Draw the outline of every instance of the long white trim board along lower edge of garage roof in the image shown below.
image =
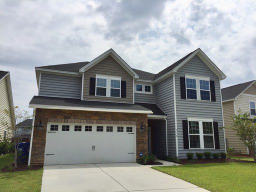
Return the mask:
<path id="1" fill-rule="evenodd" d="M 152 114 L 153 113 L 152 111 L 149 111 L 149 110 L 93 108 L 93 107 L 44 105 L 44 104 L 29 104 L 28 107 L 30 107 L 30 108 L 48 108 L 48 109 L 66 109 L 66 110 L 89 110 L 89 111 L 104 111 L 104 112 L 128 112 L 128 113 L 146 113 L 146 114 Z"/>

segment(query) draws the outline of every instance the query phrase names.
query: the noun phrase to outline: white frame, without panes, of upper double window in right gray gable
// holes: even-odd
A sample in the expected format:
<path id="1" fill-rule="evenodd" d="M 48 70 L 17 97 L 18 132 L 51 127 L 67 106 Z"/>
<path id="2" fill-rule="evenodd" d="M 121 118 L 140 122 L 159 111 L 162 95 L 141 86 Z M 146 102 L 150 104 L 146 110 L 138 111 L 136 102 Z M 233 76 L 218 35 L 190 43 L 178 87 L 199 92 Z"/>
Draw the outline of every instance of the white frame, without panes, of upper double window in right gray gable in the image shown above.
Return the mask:
<path id="1" fill-rule="evenodd" d="M 204 89 L 200 89 L 200 80 L 207 80 L 209 81 L 209 95 L 210 95 L 210 77 L 205 77 L 205 76 L 192 76 L 192 75 L 188 75 L 185 74 L 185 87 L 186 87 L 186 79 L 187 78 L 191 78 L 191 79 L 195 79 L 195 83 L 196 83 L 196 88 L 188 88 L 188 89 L 194 89 L 196 90 L 196 98 L 197 99 L 192 99 L 192 98 L 187 98 L 187 91 L 186 91 L 186 99 L 188 100 L 201 100 L 201 101 L 211 101 L 211 96 L 209 100 L 202 100 L 201 99 L 201 93 L 200 90 L 204 90 Z M 187 88 L 186 88 L 187 89 Z"/>

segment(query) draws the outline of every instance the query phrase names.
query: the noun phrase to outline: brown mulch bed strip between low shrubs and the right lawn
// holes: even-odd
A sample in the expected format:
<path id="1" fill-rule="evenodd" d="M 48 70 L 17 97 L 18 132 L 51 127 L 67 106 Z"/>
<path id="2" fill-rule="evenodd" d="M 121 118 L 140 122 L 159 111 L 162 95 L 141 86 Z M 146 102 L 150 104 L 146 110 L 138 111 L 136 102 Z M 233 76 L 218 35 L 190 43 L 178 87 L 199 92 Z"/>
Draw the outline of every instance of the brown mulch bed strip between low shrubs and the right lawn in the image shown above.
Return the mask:
<path id="1" fill-rule="evenodd" d="M 227 158 L 227 159 L 194 159 L 194 160 L 187 160 L 187 159 L 180 159 L 180 164 L 203 164 L 203 163 L 214 163 L 214 162 L 254 162 L 249 160 L 240 160 L 240 159 L 233 159 L 233 158 Z"/>

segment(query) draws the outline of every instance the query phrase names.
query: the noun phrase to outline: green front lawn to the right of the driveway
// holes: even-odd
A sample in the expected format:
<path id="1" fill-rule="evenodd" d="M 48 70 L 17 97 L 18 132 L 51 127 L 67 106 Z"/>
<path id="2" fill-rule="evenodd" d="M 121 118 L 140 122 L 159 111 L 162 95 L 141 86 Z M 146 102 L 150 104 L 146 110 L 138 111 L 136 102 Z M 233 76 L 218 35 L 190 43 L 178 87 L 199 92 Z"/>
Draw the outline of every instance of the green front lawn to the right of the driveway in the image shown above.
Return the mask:
<path id="1" fill-rule="evenodd" d="M 256 163 L 207 163 L 152 167 L 212 192 L 256 190 Z"/>

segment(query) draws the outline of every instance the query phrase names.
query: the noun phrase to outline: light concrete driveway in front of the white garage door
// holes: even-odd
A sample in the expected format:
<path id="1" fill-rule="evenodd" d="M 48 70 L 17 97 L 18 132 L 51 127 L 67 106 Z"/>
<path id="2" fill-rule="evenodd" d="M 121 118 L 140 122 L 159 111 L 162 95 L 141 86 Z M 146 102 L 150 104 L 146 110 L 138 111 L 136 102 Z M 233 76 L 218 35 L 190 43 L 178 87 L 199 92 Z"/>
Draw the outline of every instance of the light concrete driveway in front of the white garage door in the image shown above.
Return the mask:
<path id="1" fill-rule="evenodd" d="M 41 191 L 198 192 L 189 182 L 137 163 L 44 166 Z"/>

